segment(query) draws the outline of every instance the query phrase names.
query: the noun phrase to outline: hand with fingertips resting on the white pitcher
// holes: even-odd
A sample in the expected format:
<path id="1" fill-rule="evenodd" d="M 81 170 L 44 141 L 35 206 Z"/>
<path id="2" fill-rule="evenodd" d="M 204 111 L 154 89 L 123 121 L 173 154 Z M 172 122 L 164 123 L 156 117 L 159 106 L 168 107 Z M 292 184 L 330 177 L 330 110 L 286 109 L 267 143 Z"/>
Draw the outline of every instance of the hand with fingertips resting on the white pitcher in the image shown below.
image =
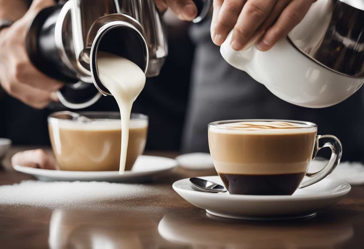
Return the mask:
<path id="1" fill-rule="evenodd" d="M 234 50 L 257 42 L 259 50 L 267 51 L 300 23 L 316 0 L 213 1 L 211 38 L 216 45 L 220 46 L 233 29 Z"/>

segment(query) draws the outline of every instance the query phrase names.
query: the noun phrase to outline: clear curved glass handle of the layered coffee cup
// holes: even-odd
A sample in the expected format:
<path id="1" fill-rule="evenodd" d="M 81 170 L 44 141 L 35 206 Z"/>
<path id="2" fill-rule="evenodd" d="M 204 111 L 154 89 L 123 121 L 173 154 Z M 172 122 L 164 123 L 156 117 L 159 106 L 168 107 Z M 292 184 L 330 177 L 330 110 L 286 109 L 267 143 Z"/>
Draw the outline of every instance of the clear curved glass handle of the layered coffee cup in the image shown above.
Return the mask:
<path id="1" fill-rule="evenodd" d="M 302 187 L 307 187 L 321 181 L 325 177 L 327 177 L 331 172 L 336 168 L 336 166 L 340 163 L 341 154 L 343 153 L 343 147 L 341 146 L 340 140 L 333 136 L 333 135 L 318 135 L 316 137 L 312 160 L 316 157 L 317 152 L 325 147 L 329 147 L 331 149 L 331 157 L 327 165 L 317 171 L 315 173 L 306 173 L 308 177 L 307 180 L 302 181 L 300 186 L 298 187 L 301 189 Z"/>

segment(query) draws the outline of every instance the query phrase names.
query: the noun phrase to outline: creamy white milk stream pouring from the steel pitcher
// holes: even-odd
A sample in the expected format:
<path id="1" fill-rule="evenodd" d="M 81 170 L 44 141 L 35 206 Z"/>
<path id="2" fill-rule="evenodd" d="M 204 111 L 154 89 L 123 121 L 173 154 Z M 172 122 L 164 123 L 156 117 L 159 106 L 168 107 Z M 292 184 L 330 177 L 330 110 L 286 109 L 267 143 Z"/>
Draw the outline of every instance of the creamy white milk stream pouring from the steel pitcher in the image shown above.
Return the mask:
<path id="1" fill-rule="evenodd" d="M 131 107 L 145 85 L 145 74 L 134 62 L 118 55 L 97 53 L 99 79 L 118 103 L 121 116 L 121 151 L 119 174 L 124 173 L 129 140 Z"/>

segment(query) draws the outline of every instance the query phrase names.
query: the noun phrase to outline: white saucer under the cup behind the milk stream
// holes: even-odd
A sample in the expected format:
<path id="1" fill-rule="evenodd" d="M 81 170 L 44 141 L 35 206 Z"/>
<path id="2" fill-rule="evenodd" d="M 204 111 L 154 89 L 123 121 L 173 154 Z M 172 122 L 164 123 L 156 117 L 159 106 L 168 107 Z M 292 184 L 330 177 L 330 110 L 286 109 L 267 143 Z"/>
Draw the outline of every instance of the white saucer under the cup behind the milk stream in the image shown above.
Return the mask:
<path id="1" fill-rule="evenodd" d="M 15 165 L 16 171 L 33 175 L 41 181 L 105 181 L 127 182 L 144 181 L 156 174 L 173 169 L 177 161 L 171 158 L 141 155 L 138 157 L 131 171 L 119 175 L 119 171 L 65 171 L 36 169 Z"/>

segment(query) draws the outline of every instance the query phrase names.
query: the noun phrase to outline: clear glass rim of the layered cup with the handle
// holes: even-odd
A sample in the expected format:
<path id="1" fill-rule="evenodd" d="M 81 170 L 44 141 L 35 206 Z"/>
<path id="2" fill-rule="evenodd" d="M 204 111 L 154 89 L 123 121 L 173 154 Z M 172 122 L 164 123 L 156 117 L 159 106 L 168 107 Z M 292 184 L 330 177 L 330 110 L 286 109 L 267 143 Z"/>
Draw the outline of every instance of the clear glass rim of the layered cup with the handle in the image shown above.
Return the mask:
<path id="1" fill-rule="evenodd" d="M 302 120 L 289 120 L 289 119 L 230 119 L 230 120 L 219 120 L 209 123 L 208 128 L 214 127 L 215 129 L 221 129 L 221 130 L 242 130 L 243 128 L 240 127 L 226 127 L 226 126 L 220 126 L 222 124 L 227 123 L 238 123 L 238 122 L 289 122 L 289 123 L 297 123 L 301 125 L 306 125 L 305 127 L 295 127 L 289 130 L 306 130 L 306 129 L 317 129 L 317 124 L 313 122 L 308 121 L 302 121 Z"/>

